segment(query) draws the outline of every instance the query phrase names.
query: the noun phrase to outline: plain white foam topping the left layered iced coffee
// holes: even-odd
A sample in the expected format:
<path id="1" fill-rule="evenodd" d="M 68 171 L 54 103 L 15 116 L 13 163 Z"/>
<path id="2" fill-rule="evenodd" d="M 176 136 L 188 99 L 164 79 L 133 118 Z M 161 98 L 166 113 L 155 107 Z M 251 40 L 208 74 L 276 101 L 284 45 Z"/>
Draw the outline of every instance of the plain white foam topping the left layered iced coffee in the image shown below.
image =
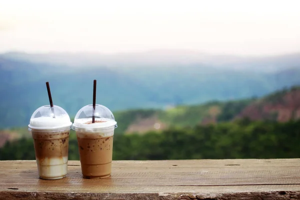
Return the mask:
<path id="1" fill-rule="evenodd" d="M 56 116 L 41 116 L 37 118 L 31 118 L 29 128 L 34 129 L 53 129 L 62 128 L 72 125 L 70 117 L 67 114 Z"/>

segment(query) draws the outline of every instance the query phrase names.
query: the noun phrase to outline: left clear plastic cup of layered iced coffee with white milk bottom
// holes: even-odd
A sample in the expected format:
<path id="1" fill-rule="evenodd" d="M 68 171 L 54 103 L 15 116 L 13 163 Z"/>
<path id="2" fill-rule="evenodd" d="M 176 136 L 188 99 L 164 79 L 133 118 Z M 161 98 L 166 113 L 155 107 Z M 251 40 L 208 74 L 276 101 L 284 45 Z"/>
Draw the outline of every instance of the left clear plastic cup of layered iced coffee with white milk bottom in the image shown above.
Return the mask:
<path id="1" fill-rule="evenodd" d="M 66 111 L 57 105 L 52 108 L 44 105 L 33 112 L 28 130 L 32 134 L 37 171 L 41 179 L 66 176 L 71 124 Z"/>

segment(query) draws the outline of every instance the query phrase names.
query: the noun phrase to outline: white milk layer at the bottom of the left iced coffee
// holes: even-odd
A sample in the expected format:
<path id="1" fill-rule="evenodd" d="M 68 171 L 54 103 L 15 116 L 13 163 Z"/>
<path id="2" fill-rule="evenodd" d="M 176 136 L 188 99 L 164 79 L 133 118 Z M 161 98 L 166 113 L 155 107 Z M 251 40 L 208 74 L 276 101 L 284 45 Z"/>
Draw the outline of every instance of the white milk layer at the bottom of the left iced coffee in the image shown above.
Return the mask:
<path id="1" fill-rule="evenodd" d="M 36 159 L 38 175 L 43 179 L 59 179 L 66 176 L 67 156 Z"/>

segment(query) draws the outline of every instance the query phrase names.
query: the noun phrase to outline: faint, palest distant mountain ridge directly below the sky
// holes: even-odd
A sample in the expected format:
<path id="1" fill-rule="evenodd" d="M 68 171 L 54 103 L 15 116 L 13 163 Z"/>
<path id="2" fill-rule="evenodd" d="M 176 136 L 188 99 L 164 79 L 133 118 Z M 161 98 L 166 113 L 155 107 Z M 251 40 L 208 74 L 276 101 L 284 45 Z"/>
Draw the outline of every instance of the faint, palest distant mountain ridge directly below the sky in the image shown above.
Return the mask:
<path id="1" fill-rule="evenodd" d="M 1 56 L 8 59 L 68 65 L 73 68 L 109 66 L 169 66 L 203 64 L 224 69 L 256 72 L 275 72 L 300 66 L 300 53 L 269 56 L 237 56 L 230 54 L 210 54 L 195 50 L 154 49 L 141 52 L 101 54 L 97 52 L 50 52 L 24 53 L 7 52 Z"/>

